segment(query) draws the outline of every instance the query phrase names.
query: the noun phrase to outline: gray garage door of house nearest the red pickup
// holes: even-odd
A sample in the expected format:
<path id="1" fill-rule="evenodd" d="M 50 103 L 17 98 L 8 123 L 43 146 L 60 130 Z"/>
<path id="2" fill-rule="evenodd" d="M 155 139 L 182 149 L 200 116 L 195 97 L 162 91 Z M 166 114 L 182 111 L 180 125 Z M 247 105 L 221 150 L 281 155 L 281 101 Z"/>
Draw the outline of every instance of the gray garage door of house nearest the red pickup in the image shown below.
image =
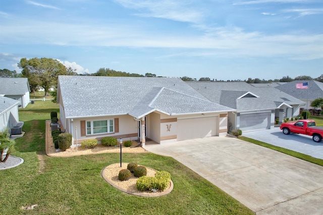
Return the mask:
<path id="1" fill-rule="evenodd" d="M 240 129 L 242 131 L 268 129 L 270 112 L 240 114 Z"/>

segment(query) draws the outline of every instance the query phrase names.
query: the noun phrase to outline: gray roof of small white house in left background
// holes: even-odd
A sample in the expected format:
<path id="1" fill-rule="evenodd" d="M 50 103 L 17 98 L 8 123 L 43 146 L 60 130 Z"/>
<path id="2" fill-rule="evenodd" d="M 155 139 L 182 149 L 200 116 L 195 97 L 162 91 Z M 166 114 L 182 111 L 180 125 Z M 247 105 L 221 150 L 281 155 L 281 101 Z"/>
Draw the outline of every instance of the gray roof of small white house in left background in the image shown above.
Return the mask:
<path id="1" fill-rule="evenodd" d="M 0 78 L 0 95 L 25 95 L 30 92 L 27 78 Z"/>

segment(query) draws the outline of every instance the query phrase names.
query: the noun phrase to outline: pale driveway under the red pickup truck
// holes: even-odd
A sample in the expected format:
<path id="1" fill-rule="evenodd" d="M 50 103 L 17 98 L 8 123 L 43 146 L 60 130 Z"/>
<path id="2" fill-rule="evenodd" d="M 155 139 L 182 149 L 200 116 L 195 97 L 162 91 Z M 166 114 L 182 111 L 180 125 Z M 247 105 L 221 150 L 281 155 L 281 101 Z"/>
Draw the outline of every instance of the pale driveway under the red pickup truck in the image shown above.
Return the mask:
<path id="1" fill-rule="evenodd" d="M 314 158 L 323 159 L 323 141 L 319 143 L 314 142 L 312 137 L 308 135 L 294 133 L 286 135 L 283 134 L 279 127 L 243 132 L 242 135 L 267 142 L 267 144 L 303 153 Z"/>

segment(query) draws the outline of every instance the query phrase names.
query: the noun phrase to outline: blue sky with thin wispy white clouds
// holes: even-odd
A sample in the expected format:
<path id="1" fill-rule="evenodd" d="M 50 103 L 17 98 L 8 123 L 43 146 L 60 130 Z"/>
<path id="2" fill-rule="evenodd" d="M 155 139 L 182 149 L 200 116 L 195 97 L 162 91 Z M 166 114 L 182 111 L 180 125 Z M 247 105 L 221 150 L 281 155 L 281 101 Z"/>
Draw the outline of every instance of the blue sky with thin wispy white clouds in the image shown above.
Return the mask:
<path id="1" fill-rule="evenodd" d="M 322 0 L 1 0 L 0 68 L 218 80 L 323 74 Z"/>

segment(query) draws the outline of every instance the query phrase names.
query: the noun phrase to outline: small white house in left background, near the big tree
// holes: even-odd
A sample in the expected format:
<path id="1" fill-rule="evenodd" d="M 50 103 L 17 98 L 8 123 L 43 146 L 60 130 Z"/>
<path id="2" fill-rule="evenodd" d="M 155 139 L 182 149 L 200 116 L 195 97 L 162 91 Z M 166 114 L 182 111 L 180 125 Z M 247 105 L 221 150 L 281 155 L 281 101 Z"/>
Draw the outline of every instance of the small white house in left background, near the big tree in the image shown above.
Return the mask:
<path id="1" fill-rule="evenodd" d="M 25 108 L 30 102 L 30 87 L 27 78 L 0 78 L 0 95 L 15 99 Z"/>

